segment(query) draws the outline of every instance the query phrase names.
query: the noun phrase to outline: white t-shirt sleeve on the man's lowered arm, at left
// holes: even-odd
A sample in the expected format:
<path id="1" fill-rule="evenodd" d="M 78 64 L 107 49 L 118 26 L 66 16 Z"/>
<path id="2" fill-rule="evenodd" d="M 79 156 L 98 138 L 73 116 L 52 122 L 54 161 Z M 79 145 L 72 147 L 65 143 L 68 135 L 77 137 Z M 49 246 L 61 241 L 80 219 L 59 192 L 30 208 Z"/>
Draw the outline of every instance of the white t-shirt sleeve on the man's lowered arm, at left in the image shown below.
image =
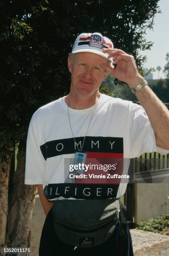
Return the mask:
<path id="1" fill-rule="evenodd" d="M 25 184 L 43 184 L 44 170 L 45 159 L 40 151 L 38 127 L 32 118 L 26 143 Z"/>

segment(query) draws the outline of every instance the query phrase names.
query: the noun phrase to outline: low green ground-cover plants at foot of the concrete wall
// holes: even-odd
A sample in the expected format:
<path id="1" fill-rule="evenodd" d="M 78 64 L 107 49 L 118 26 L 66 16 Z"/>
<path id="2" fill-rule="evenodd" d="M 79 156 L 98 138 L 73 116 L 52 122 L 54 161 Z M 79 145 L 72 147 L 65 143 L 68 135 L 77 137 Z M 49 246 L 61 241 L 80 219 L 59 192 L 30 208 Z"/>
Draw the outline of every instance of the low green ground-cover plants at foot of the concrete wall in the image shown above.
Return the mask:
<path id="1" fill-rule="evenodd" d="M 169 212 L 148 221 L 141 221 L 136 226 L 136 229 L 154 233 L 162 233 L 165 228 L 169 228 Z"/>

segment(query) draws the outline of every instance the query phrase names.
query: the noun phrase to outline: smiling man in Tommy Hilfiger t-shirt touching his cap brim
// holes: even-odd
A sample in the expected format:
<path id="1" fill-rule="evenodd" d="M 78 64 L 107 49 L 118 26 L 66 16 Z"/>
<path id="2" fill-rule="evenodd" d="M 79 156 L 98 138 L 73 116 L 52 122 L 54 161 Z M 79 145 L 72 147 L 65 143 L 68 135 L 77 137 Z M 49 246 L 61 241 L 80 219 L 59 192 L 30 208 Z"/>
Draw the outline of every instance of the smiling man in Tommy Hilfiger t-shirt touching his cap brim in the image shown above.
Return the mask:
<path id="1" fill-rule="evenodd" d="M 72 255 L 132 256 L 122 205 L 119 214 L 118 198 L 126 183 L 85 183 L 71 179 L 65 166 L 70 159 L 76 164 L 168 153 L 169 111 L 137 71 L 133 56 L 113 49 L 100 33 L 76 38 L 68 69 L 70 94 L 38 109 L 28 132 L 25 184 L 38 184 L 47 215 L 39 256 L 56 255 L 59 250 Z M 144 108 L 100 94 L 109 73 L 129 84 Z M 124 164 L 122 172 L 127 170 Z"/>

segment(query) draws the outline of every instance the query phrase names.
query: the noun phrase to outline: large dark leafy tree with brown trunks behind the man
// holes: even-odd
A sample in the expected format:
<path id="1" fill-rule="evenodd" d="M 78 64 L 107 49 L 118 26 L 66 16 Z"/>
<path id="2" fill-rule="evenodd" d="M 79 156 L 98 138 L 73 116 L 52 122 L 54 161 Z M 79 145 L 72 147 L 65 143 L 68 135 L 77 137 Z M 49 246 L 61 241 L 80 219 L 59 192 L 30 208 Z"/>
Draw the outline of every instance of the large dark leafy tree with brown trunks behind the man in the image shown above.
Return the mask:
<path id="1" fill-rule="evenodd" d="M 30 246 L 36 189 L 24 186 L 28 124 L 37 108 L 68 93 L 67 58 L 75 37 L 98 31 L 133 54 L 141 69 L 146 57 L 139 51 L 152 46 L 144 36 L 159 12 L 158 1 L 0 1 L 0 247 Z M 15 172 L 10 161 L 18 144 Z"/>

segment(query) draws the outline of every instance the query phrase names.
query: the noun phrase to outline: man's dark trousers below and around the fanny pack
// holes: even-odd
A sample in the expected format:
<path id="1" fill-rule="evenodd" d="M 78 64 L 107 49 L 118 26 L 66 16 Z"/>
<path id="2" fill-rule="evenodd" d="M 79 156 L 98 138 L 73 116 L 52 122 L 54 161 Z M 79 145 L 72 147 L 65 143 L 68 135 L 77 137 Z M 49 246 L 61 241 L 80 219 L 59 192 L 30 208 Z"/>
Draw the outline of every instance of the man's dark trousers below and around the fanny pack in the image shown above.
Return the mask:
<path id="1" fill-rule="evenodd" d="M 121 246 L 124 247 L 124 251 L 121 255 L 118 253 L 116 241 L 120 230 L 120 221 L 116 225 L 113 235 L 104 243 L 99 246 L 90 248 L 75 248 L 74 246 L 63 243 L 55 234 L 53 226 L 53 214 L 52 209 L 46 216 L 45 223 L 40 238 L 39 256 L 58 256 L 61 255 L 80 255 L 80 256 L 134 256 L 131 234 L 129 226 L 127 225 L 126 238 Z"/>

